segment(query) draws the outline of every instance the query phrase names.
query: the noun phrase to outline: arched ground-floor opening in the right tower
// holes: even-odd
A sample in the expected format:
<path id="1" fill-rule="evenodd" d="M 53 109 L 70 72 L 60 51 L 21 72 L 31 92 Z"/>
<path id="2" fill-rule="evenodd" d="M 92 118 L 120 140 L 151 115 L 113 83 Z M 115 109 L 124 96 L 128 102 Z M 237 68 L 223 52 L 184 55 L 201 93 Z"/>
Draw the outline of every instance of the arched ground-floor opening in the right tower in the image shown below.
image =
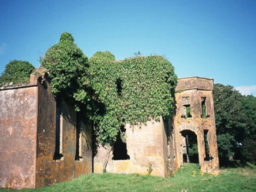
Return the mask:
<path id="1" fill-rule="evenodd" d="M 182 155 L 185 163 L 199 163 L 197 135 L 193 131 L 183 130 L 180 132 L 182 136 Z"/>

